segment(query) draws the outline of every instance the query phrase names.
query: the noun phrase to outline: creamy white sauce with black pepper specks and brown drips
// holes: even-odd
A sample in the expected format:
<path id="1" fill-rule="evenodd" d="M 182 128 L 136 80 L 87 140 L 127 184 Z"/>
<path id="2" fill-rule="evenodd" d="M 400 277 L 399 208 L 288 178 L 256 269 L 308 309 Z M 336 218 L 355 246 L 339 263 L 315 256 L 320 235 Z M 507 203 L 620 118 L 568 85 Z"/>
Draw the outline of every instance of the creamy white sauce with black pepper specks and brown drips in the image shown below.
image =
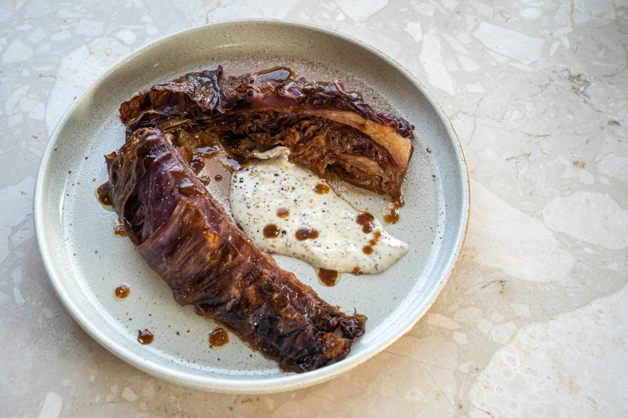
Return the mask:
<path id="1" fill-rule="evenodd" d="M 386 233 L 376 219 L 371 221 L 374 230 L 365 233 L 356 222 L 362 212 L 332 188 L 316 193 L 317 185 L 327 185 L 325 180 L 290 163 L 286 147 L 255 153 L 264 159 L 232 175 L 229 201 L 234 220 L 260 247 L 313 267 L 365 274 L 386 270 L 408 252 L 408 244 Z M 288 217 L 278 217 L 280 208 L 290 210 Z M 279 230 L 276 238 L 264 237 L 264 227 L 271 224 Z M 318 237 L 298 240 L 295 234 L 301 229 L 317 230 Z M 372 254 L 365 254 L 364 247 Z"/>

